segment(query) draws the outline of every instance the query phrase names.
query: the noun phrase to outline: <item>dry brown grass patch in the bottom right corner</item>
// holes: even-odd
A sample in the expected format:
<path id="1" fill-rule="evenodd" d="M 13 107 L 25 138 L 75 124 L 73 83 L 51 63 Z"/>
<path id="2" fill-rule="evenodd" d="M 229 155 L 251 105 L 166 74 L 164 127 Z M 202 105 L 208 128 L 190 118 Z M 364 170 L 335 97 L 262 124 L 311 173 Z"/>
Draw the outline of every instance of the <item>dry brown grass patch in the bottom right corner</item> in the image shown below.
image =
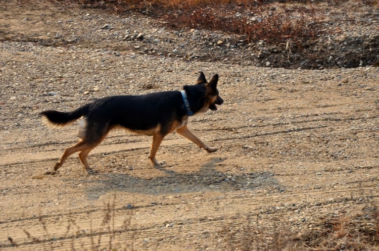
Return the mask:
<path id="1" fill-rule="evenodd" d="M 226 251 L 372 251 L 379 250 L 379 210 L 372 196 L 351 198 L 362 210 L 348 215 L 325 215 L 312 229 L 291 230 L 272 222 L 267 228 L 256 217 L 246 217 L 240 228 L 224 226 L 208 250 Z M 267 223 L 266 223 L 267 224 Z M 205 249 L 204 248 L 204 249 Z"/>

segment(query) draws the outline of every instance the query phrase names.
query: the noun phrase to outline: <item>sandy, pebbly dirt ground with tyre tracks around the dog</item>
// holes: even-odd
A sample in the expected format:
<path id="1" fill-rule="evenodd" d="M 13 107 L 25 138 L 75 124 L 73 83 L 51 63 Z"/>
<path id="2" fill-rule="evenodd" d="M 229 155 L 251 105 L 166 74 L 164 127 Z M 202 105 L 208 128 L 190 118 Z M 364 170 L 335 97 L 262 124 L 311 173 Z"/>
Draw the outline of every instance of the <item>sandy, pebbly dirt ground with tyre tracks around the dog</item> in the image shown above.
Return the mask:
<path id="1" fill-rule="evenodd" d="M 1 250 L 224 250 L 221 230 L 238 232 L 248 219 L 301 236 L 320 231 L 326 218 L 367 216 L 365 196 L 378 202 L 377 67 L 187 62 L 135 53 L 99 29 L 127 20 L 123 29 L 141 22 L 159 31 L 150 18 L 49 2 L 1 8 Z M 89 33 L 98 36 L 84 39 Z M 200 71 L 220 75 L 225 103 L 190 118 L 189 128 L 216 153 L 172 133 L 157 168 L 148 160 L 151 137 L 115 131 L 88 157 L 95 173 L 72 156 L 47 174 L 76 142 L 77 124 L 51 129 L 39 112 L 181 89 Z M 373 228 L 369 220 L 356 224 Z"/>

